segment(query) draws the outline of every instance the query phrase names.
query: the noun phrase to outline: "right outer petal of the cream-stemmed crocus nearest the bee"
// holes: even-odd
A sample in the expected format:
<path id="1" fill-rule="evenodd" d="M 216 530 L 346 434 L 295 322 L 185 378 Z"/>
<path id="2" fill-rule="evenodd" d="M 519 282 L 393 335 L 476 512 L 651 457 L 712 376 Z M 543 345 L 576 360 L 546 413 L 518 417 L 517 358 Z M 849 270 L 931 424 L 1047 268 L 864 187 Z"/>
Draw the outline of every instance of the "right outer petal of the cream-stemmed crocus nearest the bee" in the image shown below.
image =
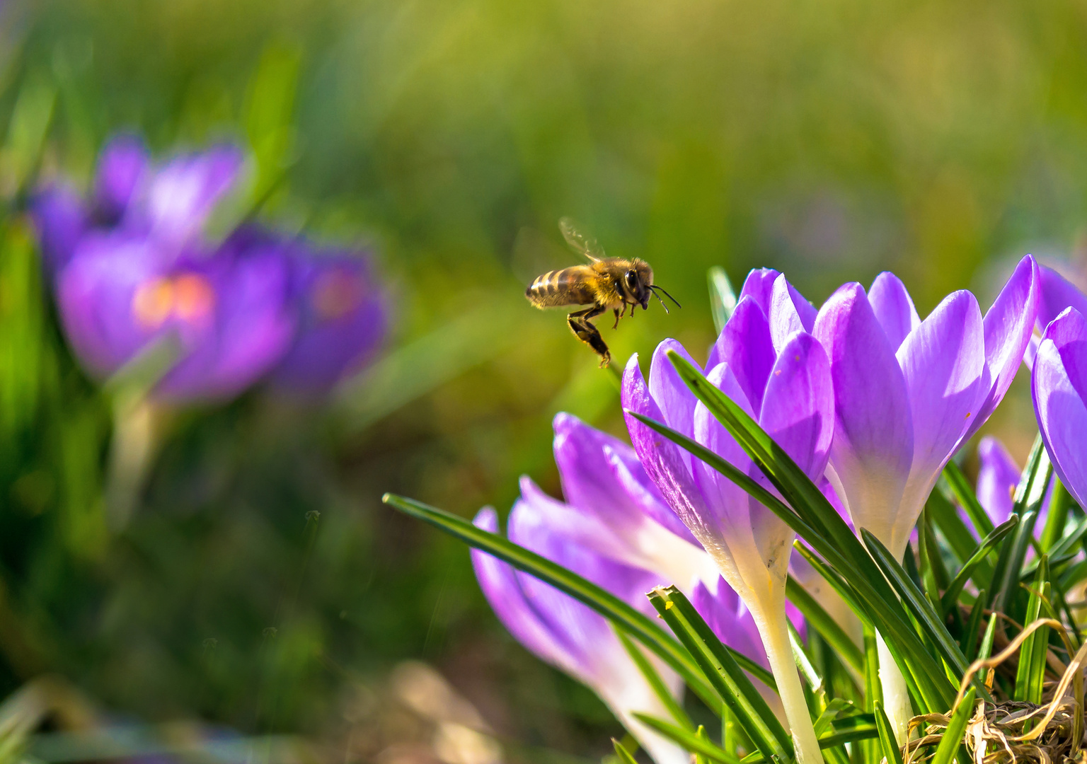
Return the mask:
<path id="1" fill-rule="evenodd" d="M 826 352 L 810 334 L 796 333 L 778 354 L 759 424 L 810 478 L 823 474 L 834 435 L 834 388 Z"/>

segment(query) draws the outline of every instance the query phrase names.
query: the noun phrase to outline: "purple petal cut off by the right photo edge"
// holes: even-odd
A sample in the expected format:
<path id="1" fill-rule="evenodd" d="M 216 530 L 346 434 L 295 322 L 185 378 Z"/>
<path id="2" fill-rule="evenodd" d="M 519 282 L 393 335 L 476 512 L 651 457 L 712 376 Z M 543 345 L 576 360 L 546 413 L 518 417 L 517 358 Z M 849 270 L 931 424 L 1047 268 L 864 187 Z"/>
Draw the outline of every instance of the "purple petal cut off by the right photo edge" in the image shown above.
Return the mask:
<path id="1" fill-rule="evenodd" d="M 1087 320 L 1069 308 L 1046 328 L 1032 375 L 1035 415 L 1053 469 L 1083 506 L 1087 500 Z"/>

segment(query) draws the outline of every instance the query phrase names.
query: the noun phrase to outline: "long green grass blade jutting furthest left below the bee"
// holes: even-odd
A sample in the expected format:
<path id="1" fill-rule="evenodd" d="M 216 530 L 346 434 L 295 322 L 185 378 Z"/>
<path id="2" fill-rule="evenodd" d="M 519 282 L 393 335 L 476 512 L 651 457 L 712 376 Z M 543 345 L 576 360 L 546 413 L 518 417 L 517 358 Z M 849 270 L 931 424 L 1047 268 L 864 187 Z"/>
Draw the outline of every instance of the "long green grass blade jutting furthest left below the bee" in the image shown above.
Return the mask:
<path id="1" fill-rule="evenodd" d="M 644 613 L 638 612 L 611 592 L 509 539 L 477 528 L 471 522 L 452 513 L 392 493 L 386 493 L 382 497 L 382 501 L 404 514 L 440 528 L 471 547 L 495 555 L 518 571 L 536 576 L 541 581 L 550 584 L 585 603 L 605 618 L 622 626 L 628 635 L 657 653 L 684 678 L 687 686 L 711 709 L 715 709 L 721 702 L 704 679 L 700 678 L 701 672 L 698 665 L 683 647 Z"/>

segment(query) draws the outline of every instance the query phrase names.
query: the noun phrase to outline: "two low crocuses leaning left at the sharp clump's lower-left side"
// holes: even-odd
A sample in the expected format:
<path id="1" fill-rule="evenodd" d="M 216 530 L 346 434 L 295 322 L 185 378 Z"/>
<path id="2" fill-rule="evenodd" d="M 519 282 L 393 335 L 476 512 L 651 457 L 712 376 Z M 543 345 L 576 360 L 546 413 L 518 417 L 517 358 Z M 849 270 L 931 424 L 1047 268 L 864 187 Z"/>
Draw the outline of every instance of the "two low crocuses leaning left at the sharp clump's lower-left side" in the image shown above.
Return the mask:
<path id="1" fill-rule="evenodd" d="M 566 501 L 521 480 L 508 536 L 616 597 L 651 613 L 646 592 L 661 584 L 687 591 L 695 606 L 729 647 L 767 665 L 751 613 L 720 579 L 712 559 L 664 502 L 629 446 L 570 414 L 554 419 L 554 454 Z M 498 531 L 484 509 L 475 524 Z M 658 764 L 685 754 L 638 722 L 635 712 L 664 714 L 645 676 L 607 619 L 567 594 L 474 551 L 479 585 L 499 619 L 537 656 L 590 687 Z M 795 614 L 802 627 L 799 614 Z M 682 681 L 653 659 L 673 694 Z M 773 692 L 761 686 L 771 706 Z"/>

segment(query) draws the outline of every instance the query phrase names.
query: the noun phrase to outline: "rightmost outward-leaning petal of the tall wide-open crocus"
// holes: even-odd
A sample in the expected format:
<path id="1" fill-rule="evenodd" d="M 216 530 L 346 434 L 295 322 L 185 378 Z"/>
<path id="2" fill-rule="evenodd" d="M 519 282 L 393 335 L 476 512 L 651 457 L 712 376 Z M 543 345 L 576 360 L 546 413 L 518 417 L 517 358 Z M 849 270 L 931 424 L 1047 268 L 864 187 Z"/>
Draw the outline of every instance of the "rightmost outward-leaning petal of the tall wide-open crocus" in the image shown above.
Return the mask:
<path id="1" fill-rule="evenodd" d="M 1029 348 L 1041 297 L 1041 274 L 1038 264 L 1028 254 L 1020 261 L 985 314 L 985 364 L 990 387 L 970 427 L 963 433 L 960 446 L 973 437 L 1004 399 Z"/>

